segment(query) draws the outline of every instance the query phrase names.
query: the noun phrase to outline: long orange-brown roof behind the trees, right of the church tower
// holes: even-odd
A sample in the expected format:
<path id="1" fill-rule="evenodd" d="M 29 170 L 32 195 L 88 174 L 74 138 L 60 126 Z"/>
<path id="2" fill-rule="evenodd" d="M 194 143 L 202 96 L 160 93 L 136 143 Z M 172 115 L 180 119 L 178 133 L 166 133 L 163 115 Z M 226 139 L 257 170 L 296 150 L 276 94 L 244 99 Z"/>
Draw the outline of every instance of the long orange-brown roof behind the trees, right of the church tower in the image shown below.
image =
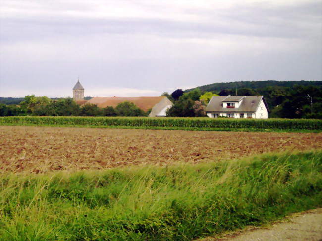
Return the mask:
<path id="1" fill-rule="evenodd" d="M 107 106 L 116 107 L 119 103 L 129 101 L 134 103 L 140 109 L 147 111 L 152 109 L 159 103 L 165 96 L 156 97 L 94 97 L 87 101 L 87 103 L 96 104 L 100 108 Z"/>

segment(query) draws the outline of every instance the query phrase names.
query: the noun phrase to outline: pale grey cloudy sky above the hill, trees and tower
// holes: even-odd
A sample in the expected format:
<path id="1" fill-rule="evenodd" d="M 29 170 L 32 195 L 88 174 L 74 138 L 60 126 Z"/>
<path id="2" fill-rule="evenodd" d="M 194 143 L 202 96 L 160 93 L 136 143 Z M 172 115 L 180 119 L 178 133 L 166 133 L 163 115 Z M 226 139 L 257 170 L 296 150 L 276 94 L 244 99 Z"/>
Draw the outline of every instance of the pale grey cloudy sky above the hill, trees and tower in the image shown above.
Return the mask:
<path id="1" fill-rule="evenodd" d="M 1 0 L 0 96 L 322 80 L 321 0 Z"/>

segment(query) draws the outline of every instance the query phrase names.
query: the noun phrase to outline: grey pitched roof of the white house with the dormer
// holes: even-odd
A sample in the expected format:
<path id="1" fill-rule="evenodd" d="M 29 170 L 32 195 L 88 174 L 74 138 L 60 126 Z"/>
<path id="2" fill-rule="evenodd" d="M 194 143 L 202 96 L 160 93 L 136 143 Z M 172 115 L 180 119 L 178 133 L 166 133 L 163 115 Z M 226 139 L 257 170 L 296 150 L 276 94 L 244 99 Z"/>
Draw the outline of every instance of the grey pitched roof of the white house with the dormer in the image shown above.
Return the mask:
<path id="1" fill-rule="evenodd" d="M 206 111 L 211 111 L 211 112 L 256 112 L 262 99 L 263 99 L 263 102 L 264 102 L 267 110 L 269 111 L 268 105 L 267 105 L 263 96 L 230 96 L 230 97 L 236 97 L 235 99 L 238 99 L 239 97 L 244 98 L 243 101 L 241 102 L 239 108 L 230 108 L 230 109 L 222 107 L 222 102 L 227 102 L 226 101 L 227 97 L 229 97 L 229 96 L 213 96 L 206 107 Z"/>

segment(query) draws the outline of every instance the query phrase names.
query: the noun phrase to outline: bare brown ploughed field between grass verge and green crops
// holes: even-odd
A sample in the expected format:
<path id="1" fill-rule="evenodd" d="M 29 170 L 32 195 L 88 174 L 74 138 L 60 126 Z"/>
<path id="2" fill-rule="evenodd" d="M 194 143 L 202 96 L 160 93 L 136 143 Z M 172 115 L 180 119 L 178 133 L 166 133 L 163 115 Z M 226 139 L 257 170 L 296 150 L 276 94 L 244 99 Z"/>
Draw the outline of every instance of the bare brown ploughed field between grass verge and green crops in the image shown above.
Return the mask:
<path id="1" fill-rule="evenodd" d="M 0 172 L 209 162 L 322 148 L 322 133 L 0 126 Z"/>

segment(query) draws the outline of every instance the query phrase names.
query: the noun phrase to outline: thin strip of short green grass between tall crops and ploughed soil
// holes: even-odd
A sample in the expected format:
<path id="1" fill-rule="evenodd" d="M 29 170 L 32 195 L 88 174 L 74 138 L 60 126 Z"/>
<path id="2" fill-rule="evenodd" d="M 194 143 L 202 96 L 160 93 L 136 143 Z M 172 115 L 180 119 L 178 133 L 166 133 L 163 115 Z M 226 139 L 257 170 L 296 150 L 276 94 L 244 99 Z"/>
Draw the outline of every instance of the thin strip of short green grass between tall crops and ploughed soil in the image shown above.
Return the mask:
<path id="1" fill-rule="evenodd" d="M 59 125 L 7 123 L 4 126 L 42 126 L 42 127 L 76 127 L 76 128 L 107 128 L 107 129 L 145 129 L 145 130 L 183 130 L 183 131 L 234 131 L 234 132 L 295 132 L 321 133 L 322 130 L 305 129 L 259 129 L 259 128 L 207 128 L 207 127 L 161 127 L 161 126 L 103 126 L 103 125 Z"/>

